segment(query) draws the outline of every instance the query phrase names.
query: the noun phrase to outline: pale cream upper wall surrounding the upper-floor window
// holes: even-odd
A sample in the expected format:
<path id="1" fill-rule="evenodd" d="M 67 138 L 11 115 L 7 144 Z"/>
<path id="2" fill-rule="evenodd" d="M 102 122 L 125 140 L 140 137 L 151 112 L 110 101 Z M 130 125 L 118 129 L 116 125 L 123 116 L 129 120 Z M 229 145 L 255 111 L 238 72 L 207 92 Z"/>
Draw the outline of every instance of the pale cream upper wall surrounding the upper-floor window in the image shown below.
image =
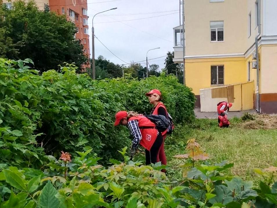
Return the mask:
<path id="1" fill-rule="evenodd" d="M 186 0 L 186 56 L 245 53 L 248 1 L 254 0 Z M 224 42 L 211 42 L 210 21 L 224 21 Z"/>

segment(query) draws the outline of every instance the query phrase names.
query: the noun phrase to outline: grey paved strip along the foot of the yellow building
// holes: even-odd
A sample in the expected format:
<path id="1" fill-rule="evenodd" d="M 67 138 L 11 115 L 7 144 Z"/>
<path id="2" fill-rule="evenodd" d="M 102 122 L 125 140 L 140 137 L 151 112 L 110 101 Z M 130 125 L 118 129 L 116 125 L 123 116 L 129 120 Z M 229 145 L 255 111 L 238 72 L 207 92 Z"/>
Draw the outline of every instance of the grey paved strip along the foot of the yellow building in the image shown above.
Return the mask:
<path id="1" fill-rule="evenodd" d="M 200 112 L 200 108 L 195 108 L 194 112 L 195 112 L 196 118 L 198 119 L 217 119 L 218 118 L 217 112 Z M 229 115 L 227 116 L 230 119 L 233 117 L 240 118 L 246 112 L 251 114 L 257 113 L 255 110 L 231 111 L 231 112 L 228 112 Z"/>

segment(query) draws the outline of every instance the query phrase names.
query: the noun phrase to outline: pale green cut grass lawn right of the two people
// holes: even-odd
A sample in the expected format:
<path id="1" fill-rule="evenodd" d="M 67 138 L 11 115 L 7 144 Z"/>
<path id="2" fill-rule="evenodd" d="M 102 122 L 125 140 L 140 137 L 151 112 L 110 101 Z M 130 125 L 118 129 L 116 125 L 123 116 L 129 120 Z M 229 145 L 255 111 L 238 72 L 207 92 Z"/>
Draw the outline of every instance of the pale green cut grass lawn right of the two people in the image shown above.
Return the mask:
<path id="1" fill-rule="evenodd" d="M 231 128 L 219 128 L 217 120 L 197 119 L 193 127 L 178 127 L 175 136 L 165 141 L 168 159 L 168 175 L 180 179 L 182 163 L 174 155 L 186 153 L 186 142 L 196 138 L 203 150 L 209 154 L 211 163 L 228 160 L 234 163 L 228 175 L 240 176 L 257 184 L 260 179 L 254 168 L 277 166 L 277 130 L 245 130 L 239 119 L 231 119 Z"/>

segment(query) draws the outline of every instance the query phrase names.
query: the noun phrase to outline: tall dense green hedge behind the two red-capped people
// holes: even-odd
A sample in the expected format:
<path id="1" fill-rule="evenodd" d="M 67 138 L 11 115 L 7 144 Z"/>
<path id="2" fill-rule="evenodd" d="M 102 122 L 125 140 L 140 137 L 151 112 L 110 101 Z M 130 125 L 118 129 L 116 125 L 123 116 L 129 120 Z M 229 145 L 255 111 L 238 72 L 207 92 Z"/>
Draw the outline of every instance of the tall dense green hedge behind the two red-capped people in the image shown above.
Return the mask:
<path id="1" fill-rule="evenodd" d="M 118 158 L 130 140 L 126 128 L 114 128 L 114 115 L 124 105 L 150 112 L 145 92 L 153 88 L 161 89 L 176 122 L 194 117 L 193 94 L 171 76 L 93 81 L 71 64 L 41 76 L 29 65 L 30 59 L 0 59 L 0 158 L 11 166 L 41 167 L 44 152 L 57 157 L 86 146 L 103 163 Z"/>

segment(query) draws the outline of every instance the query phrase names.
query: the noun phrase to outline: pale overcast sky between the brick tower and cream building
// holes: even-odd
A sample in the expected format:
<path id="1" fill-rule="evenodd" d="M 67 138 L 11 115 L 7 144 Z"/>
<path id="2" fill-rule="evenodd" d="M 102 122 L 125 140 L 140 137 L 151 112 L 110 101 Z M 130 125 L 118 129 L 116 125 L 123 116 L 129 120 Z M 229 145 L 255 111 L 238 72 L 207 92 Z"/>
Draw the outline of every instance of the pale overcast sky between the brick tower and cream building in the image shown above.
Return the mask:
<path id="1" fill-rule="evenodd" d="M 103 1 L 110 2 L 96 3 Z M 148 59 L 165 56 L 167 51 L 173 51 L 172 28 L 179 25 L 179 0 L 88 0 L 88 15 L 90 16 L 88 19 L 90 50 L 92 49 L 91 22 L 93 15 L 97 12 L 114 7 L 117 7 L 117 9 L 97 15 L 93 22 L 95 36 L 119 58 L 130 63 L 131 61 L 137 62 L 146 60 L 146 52 L 149 49 L 160 47 L 160 49 L 150 51 L 148 53 Z M 147 14 L 122 15 L 136 13 Z M 153 18 L 141 19 L 147 17 Z M 122 21 L 130 19 L 140 20 Z M 90 54 L 92 53 L 90 52 Z M 111 54 L 95 38 L 95 58 L 99 55 L 103 55 L 106 59 L 115 64 L 125 64 Z M 164 59 L 165 57 L 149 60 L 149 64 L 158 64 L 161 69 L 164 67 Z M 145 64 L 146 62 L 142 62 L 143 66 L 145 66 Z"/>

